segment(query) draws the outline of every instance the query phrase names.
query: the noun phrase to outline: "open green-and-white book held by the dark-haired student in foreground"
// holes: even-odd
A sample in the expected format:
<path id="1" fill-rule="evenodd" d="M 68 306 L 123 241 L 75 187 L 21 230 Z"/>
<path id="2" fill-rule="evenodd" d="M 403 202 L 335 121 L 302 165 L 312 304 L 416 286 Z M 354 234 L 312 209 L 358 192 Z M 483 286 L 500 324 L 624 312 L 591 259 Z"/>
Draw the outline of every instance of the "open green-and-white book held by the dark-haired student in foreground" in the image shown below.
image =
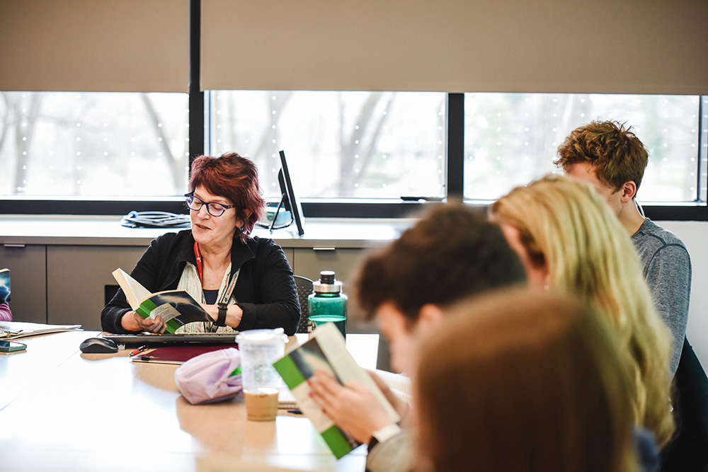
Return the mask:
<path id="1" fill-rule="evenodd" d="M 384 405 L 391 422 L 398 422 L 400 419 L 369 373 L 359 367 L 350 355 L 344 337 L 334 323 L 317 326 L 312 338 L 287 353 L 282 359 L 278 359 L 273 366 L 292 391 L 299 409 L 312 421 L 337 459 L 346 456 L 358 447 L 359 443 L 337 427 L 310 398 L 307 379 L 316 370 L 329 372 L 341 384 L 346 384 L 350 380 L 358 381 L 369 388 Z"/>

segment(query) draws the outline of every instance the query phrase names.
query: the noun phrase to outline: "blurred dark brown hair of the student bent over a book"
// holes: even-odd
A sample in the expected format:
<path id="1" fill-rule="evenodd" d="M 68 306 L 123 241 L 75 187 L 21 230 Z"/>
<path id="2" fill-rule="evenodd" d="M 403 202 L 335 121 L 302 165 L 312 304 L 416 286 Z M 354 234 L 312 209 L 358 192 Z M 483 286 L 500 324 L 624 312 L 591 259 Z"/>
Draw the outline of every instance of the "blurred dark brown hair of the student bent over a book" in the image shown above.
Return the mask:
<path id="1" fill-rule="evenodd" d="M 367 319 L 392 302 L 412 326 L 425 304 L 445 306 L 525 280 L 525 269 L 501 229 L 455 202 L 435 207 L 370 255 L 358 270 L 355 292 Z"/>

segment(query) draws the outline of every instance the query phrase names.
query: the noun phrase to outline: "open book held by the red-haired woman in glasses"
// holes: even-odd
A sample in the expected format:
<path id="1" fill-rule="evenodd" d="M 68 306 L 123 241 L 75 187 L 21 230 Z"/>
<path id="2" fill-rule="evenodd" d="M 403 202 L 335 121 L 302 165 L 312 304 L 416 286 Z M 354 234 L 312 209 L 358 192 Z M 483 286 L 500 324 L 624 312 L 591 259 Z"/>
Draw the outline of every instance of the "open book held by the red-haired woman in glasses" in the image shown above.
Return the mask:
<path id="1" fill-rule="evenodd" d="M 180 326 L 194 321 L 214 321 L 184 290 L 166 290 L 152 294 L 122 269 L 114 270 L 113 277 L 125 293 L 130 308 L 143 318 L 154 319 L 157 315 L 162 316 L 168 333 L 174 334 Z"/>

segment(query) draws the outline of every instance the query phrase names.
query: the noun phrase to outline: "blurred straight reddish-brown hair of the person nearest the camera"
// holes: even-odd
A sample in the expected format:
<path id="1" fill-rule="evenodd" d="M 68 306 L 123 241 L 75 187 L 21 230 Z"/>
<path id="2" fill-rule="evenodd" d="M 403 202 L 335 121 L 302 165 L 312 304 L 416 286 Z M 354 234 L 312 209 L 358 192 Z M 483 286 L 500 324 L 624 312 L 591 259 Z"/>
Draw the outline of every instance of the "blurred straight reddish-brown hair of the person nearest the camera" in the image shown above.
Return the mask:
<path id="1" fill-rule="evenodd" d="M 629 359 L 569 295 L 515 289 L 455 306 L 414 376 L 417 472 L 628 472 Z"/>

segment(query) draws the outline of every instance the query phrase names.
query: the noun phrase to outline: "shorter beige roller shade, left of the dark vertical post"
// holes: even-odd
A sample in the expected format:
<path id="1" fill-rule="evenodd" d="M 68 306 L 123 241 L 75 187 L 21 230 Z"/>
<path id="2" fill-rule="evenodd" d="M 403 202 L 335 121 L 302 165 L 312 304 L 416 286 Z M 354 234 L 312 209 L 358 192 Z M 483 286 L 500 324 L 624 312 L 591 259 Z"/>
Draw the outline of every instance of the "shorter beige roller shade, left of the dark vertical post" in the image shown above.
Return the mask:
<path id="1" fill-rule="evenodd" d="M 0 90 L 187 92 L 189 0 L 3 0 Z"/>

